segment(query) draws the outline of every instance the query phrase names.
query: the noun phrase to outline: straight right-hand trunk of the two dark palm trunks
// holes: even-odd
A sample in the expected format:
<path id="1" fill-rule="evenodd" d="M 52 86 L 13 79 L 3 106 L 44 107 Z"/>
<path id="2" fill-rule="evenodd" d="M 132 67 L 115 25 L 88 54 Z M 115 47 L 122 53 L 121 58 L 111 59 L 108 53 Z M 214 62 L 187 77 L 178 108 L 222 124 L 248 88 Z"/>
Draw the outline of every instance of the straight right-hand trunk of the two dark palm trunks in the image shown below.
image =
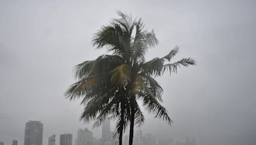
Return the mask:
<path id="1" fill-rule="evenodd" d="M 134 115 L 135 115 L 135 108 L 134 108 L 134 100 L 135 96 L 131 97 L 131 123 L 130 123 L 130 134 L 129 134 L 129 145 L 132 145 L 133 141 L 133 132 L 134 132 Z"/>

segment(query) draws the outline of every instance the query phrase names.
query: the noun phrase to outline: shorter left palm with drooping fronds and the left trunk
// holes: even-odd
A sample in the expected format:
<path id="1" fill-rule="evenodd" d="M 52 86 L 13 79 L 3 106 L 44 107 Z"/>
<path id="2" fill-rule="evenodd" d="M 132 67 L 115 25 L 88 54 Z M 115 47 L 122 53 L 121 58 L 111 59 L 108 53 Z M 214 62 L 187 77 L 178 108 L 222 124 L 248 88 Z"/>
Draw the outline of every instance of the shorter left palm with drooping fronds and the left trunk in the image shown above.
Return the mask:
<path id="1" fill-rule="evenodd" d="M 112 119 L 117 119 L 115 136 L 119 135 L 119 144 L 122 144 L 122 134 L 130 114 L 125 108 L 127 99 L 124 97 L 123 89 L 109 81 L 109 72 L 121 63 L 122 60 L 118 56 L 102 55 L 96 60 L 78 64 L 75 67 L 77 81 L 65 93 L 70 100 L 83 97 L 81 104 L 86 106 L 81 114 L 81 120 L 97 120 L 93 127 L 99 127 L 109 115 Z"/>

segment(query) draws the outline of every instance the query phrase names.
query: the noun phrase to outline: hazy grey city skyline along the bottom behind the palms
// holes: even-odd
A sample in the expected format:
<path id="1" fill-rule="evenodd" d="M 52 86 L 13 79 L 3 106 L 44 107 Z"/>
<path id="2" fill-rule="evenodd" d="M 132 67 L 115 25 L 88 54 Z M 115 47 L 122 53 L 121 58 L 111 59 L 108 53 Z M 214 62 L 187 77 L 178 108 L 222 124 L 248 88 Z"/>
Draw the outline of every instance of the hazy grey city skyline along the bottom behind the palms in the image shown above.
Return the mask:
<path id="1" fill-rule="evenodd" d="M 108 137 L 108 135 L 103 134 L 103 132 L 109 132 L 113 135 L 113 132 L 110 130 L 110 121 L 106 120 L 105 123 L 102 123 L 102 136 Z M 25 139 L 29 138 L 28 136 L 32 137 L 39 137 L 38 132 L 42 132 L 43 130 L 43 123 L 41 121 L 31 121 L 29 120 L 26 123 L 25 127 Z M 29 133 L 28 133 L 29 132 Z M 58 136 L 58 135 L 57 135 Z M 60 144 L 56 144 L 56 134 L 51 135 L 48 137 L 48 145 L 116 145 L 118 144 L 118 139 L 111 139 L 109 141 L 104 141 L 103 137 L 94 137 L 93 132 L 88 130 L 88 128 L 84 129 L 77 129 L 77 138 L 70 133 L 63 133 L 60 134 Z M 75 142 L 73 142 L 73 137 Z M 40 137 L 39 137 L 40 138 Z M 41 139 L 41 138 L 40 138 Z M 43 136 L 42 136 L 43 139 Z M 35 141 L 39 141 L 37 138 L 31 139 Z M 12 141 L 12 145 L 17 145 L 17 140 Z M 123 144 L 129 144 L 129 135 L 124 135 L 123 137 Z M 25 142 L 24 142 L 25 144 Z M 31 142 L 30 142 L 31 144 Z M 4 142 L 0 142 L 0 145 L 6 145 Z M 44 145 L 44 144 L 43 144 Z M 186 137 L 184 141 L 177 140 L 173 143 L 173 138 L 163 138 L 163 137 L 155 137 L 151 133 L 143 133 L 141 128 L 137 128 L 134 132 L 134 145 L 196 145 L 195 137 Z"/>

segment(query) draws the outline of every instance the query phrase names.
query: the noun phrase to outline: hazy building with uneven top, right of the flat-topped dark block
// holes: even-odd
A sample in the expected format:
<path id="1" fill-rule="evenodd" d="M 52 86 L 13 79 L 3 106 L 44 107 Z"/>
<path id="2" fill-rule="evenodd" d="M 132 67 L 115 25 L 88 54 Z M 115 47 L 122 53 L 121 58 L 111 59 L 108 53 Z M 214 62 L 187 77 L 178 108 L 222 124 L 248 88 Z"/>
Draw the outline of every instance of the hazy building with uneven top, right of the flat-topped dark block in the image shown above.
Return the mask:
<path id="1" fill-rule="evenodd" d="M 88 128 L 77 130 L 77 145 L 93 145 L 93 133 Z"/>

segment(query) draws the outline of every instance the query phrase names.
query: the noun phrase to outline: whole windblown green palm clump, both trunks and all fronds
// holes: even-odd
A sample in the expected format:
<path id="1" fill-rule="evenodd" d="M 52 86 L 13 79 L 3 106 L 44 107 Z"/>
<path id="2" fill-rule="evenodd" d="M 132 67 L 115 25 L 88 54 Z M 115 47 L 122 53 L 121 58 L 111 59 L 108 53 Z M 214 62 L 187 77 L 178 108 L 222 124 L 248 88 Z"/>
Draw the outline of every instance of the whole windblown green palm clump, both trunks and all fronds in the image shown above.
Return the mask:
<path id="1" fill-rule="evenodd" d="M 154 31 L 145 30 L 141 19 L 132 20 L 120 11 L 118 15 L 119 19 L 103 26 L 93 38 L 93 46 L 106 48 L 110 55 L 78 64 L 75 67 L 77 81 L 66 95 L 70 99 L 83 98 L 82 104 L 86 106 L 81 120 L 96 120 L 93 127 L 98 127 L 108 116 L 117 120 L 115 135 L 119 135 L 119 144 L 129 123 L 129 144 L 132 145 L 134 124 L 141 125 L 144 121 L 139 99 L 155 118 L 172 123 L 168 111 L 160 104 L 163 88 L 154 78 L 166 71 L 177 72 L 180 66 L 195 65 L 195 60 L 166 63 L 178 52 L 176 47 L 168 55 L 146 62 L 148 49 L 158 43 Z"/>

